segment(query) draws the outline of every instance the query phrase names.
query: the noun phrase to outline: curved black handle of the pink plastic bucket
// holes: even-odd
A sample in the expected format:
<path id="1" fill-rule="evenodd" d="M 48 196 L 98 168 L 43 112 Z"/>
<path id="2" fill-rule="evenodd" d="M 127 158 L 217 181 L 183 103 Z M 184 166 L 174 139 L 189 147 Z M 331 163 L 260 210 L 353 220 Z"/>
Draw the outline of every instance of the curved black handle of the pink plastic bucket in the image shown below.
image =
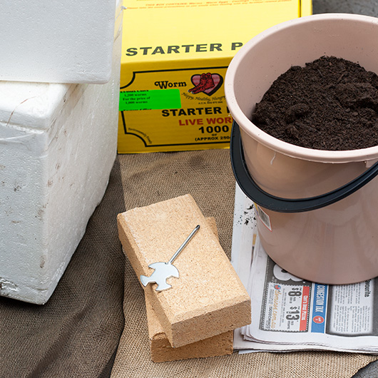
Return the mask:
<path id="1" fill-rule="evenodd" d="M 362 175 L 354 178 L 349 183 L 340 186 L 328 193 L 307 198 L 281 198 L 271 195 L 262 190 L 247 170 L 245 163 L 244 151 L 242 149 L 242 140 L 240 137 L 239 125 L 233 121 L 230 140 L 230 158 L 233 166 L 233 173 L 240 189 L 253 200 L 257 205 L 277 213 L 300 213 L 304 211 L 316 210 L 331 205 L 348 195 L 356 192 L 364 185 L 369 183 L 378 175 L 378 162 L 374 163 L 369 169 L 365 170 Z"/>

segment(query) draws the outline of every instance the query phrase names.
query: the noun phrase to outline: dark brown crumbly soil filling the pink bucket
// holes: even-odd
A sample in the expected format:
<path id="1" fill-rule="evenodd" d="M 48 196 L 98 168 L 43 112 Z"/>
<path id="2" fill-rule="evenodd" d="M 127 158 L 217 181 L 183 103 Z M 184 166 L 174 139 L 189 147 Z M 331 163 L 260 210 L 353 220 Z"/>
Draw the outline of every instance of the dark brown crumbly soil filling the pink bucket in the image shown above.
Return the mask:
<path id="1" fill-rule="evenodd" d="M 252 122 L 282 141 L 317 150 L 378 145 L 378 76 L 358 63 L 322 56 L 272 83 Z"/>

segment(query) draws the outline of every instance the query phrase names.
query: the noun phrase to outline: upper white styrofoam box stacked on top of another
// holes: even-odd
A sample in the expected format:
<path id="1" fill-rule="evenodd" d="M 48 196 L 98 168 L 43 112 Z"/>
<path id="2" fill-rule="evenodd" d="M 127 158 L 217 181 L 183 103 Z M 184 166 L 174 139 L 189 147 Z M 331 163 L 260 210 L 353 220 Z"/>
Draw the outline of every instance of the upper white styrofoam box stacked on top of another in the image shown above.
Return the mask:
<path id="1" fill-rule="evenodd" d="M 121 0 L 0 0 L 0 80 L 107 83 Z"/>

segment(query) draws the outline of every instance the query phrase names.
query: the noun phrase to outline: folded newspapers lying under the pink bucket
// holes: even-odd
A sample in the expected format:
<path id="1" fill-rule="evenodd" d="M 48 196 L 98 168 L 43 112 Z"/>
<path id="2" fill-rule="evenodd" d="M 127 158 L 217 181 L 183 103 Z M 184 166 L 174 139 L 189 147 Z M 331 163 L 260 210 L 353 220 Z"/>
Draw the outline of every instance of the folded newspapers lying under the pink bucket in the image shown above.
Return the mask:
<path id="1" fill-rule="evenodd" d="M 231 260 L 252 305 L 251 325 L 235 330 L 235 349 L 378 353 L 377 279 L 321 285 L 282 270 L 260 245 L 254 206 L 238 186 Z"/>

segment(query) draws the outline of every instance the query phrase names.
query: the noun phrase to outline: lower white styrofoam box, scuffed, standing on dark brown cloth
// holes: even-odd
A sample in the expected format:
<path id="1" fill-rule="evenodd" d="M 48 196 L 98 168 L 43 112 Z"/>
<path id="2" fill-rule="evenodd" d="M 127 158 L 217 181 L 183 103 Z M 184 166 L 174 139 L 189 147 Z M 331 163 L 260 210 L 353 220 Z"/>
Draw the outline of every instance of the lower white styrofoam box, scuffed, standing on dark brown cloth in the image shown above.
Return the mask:
<path id="1" fill-rule="evenodd" d="M 106 84 L 0 82 L 0 295 L 44 304 L 116 158 L 121 34 Z"/>

